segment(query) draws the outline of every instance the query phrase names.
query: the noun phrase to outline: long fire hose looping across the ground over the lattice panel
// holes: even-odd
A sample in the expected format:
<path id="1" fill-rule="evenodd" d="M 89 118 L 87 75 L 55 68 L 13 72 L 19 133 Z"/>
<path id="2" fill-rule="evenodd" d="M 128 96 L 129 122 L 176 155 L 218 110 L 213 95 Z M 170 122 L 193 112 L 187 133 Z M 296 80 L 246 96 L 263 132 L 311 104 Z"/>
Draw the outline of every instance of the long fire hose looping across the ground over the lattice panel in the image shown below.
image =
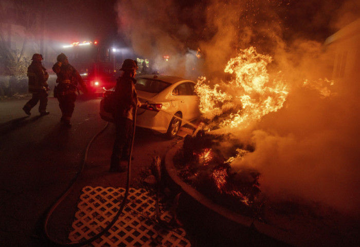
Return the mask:
<path id="1" fill-rule="evenodd" d="M 83 246 L 85 244 L 89 244 L 91 242 L 94 242 L 96 239 L 100 238 L 102 235 L 104 235 L 107 231 L 109 231 L 111 229 L 111 227 L 115 224 L 115 222 L 119 219 L 120 214 L 122 213 L 124 207 L 125 207 L 125 203 L 127 201 L 127 198 L 129 196 L 129 188 L 130 188 L 130 170 L 131 170 L 131 157 L 132 157 L 132 153 L 133 153 L 133 145 L 134 145 L 134 137 L 135 137 L 135 125 L 136 125 L 136 113 L 137 113 L 137 106 L 134 107 L 134 115 L 133 115 L 133 135 L 132 135 L 132 140 L 131 140 L 131 145 L 130 145 L 130 150 L 129 150 L 129 159 L 128 159 L 128 173 L 127 173 L 127 185 L 126 185 L 126 189 L 125 189 L 125 194 L 123 197 L 123 200 L 120 204 L 120 208 L 117 211 L 116 215 L 114 216 L 113 220 L 105 227 L 105 229 L 103 229 L 101 232 L 99 232 L 98 234 L 96 234 L 95 236 L 86 239 L 84 241 L 78 241 L 78 242 L 70 242 L 70 243 L 61 243 L 58 242 L 54 239 L 52 239 L 47 231 L 47 225 L 48 225 L 48 221 L 50 216 L 52 215 L 52 213 L 55 211 L 55 209 L 58 207 L 58 205 L 67 197 L 67 195 L 71 192 L 71 190 L 73 189 L 75 182 L 77 181 L 77 179 L 79 178 L 80 174 L 82 173 L 84 167 L 85 167 L 85 162 L 87 159 L 87 153 L 88 153 L 88 149 L 91 146 L 91 144 L 93 143 L 93 141 L 106 129 L 106 127 L 109 125 L 109 122 L 106 123 L 105 127 L 103 129 L 101 129 L 88 143 L 87 147 L 86 147 L 86 151 L 85 151 L 85 155 L 84 158 L 82 160 L 82 165 L 81 165 L 81 169 L 80 172 L 77 174 L 77 176 L 73 179 L 73 181 L 71 182 L 71 184 L 69 185 L 69 187 L 67 188 L 67 190 L 65 191 L 65 193 L 55 202 L 53 203 L 53 205 L 51 206 L 50 210 L 48 211 L 45 221 L 44 221 L 44 233 L 45 236 L 47 238 L 48 241 L 50 241 L 52 244 L 58 245 L 58 246 Z"/>

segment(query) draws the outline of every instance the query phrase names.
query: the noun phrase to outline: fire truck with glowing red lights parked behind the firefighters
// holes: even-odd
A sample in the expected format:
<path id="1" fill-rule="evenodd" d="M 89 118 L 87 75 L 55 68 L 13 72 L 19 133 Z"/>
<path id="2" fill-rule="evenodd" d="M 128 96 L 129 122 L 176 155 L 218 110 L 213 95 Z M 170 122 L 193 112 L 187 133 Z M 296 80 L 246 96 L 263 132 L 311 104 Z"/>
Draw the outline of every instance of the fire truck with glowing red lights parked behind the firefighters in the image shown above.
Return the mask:
<path id="1" fill-rule="evenodd" d="M 91 93 L 102 93 L 116 84 L 115 51 L 97 41 L 63 46 L 69 63 L 78 70 Z"/>

